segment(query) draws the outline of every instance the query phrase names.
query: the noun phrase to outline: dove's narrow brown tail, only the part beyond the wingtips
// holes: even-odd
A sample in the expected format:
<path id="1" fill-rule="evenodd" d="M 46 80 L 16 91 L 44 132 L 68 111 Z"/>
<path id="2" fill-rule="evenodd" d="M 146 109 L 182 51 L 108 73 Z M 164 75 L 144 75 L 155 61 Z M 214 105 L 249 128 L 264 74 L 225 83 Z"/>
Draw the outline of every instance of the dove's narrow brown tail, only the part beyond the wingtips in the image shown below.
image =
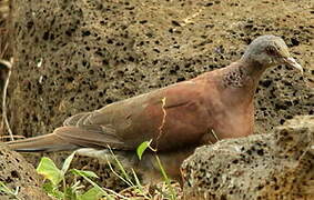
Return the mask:
<path id="1" fill-rule="evenodd" d="M 54 133 L 7 142 L 10 149 L 20 152 L 68 151 L 79 147 L 67 142 Z"/>

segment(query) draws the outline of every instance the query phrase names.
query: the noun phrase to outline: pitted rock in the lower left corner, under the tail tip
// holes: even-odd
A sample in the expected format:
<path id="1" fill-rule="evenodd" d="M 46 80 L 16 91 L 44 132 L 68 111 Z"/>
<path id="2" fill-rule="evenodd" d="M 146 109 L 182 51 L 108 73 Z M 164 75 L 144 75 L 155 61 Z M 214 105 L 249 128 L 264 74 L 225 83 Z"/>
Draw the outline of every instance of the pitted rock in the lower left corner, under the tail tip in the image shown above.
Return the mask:
<path id="1" fill-rule="evenodd" d="M 50 198 L 40 188 L 39 180 L 34 168 L 22 156 L 8 150 L 4 144 L 0 143 L 0 181 L 6 187 L 11 191 L 18 189 L 17 197 L 22 200 L 49 200 Z M 12 198 L 11 194 L 0 191 L 1 200 Z"/>

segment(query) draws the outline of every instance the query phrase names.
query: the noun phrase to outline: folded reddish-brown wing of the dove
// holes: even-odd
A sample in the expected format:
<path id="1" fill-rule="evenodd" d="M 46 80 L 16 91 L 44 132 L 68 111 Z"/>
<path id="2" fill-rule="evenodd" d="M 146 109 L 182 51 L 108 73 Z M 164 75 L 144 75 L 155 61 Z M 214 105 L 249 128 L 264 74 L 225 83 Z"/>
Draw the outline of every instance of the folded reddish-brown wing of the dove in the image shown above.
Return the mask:
<path id="1" fill-rule="evenodd" d="M 173 84 L 75 114 L 54 134 L 82 147 L 133 150 L 153 139 L 159 150 L 196 143 L 206 130 L 202 87 L 192 81 Z"/>

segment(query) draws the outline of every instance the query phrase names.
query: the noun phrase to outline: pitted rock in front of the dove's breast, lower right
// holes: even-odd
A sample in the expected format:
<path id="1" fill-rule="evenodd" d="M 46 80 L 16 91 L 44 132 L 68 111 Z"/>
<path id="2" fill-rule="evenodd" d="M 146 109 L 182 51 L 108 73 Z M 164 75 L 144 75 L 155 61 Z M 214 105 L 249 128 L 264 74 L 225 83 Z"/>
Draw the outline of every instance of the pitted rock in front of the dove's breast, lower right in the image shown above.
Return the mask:
<path id="1" fill-rule="evenodd" d="M 274 133 L 197 148 L 184 161 L 184 194 L 194 199 L 314 198 L 314 116 L 296 117 Z"/>

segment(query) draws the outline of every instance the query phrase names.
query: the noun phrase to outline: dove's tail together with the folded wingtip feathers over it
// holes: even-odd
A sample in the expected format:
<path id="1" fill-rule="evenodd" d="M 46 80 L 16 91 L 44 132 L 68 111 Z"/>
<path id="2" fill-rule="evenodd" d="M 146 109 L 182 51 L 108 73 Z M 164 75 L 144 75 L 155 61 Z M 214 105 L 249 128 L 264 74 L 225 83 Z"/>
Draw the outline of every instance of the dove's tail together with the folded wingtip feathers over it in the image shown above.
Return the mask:
<path id="1" fill-rule="evenodd" d="M 71 126 L 60 127 L 50 134 L 11 141 L 7 144 L 12 150 L 23 152 L 68 151 L 79 148 L 101 149 L 108 146 L 114 149 L 130 149 L 111 129 L 101 129 L 95 126 L 85 126 L 84 129 Z"/>

